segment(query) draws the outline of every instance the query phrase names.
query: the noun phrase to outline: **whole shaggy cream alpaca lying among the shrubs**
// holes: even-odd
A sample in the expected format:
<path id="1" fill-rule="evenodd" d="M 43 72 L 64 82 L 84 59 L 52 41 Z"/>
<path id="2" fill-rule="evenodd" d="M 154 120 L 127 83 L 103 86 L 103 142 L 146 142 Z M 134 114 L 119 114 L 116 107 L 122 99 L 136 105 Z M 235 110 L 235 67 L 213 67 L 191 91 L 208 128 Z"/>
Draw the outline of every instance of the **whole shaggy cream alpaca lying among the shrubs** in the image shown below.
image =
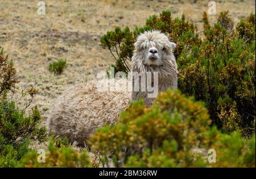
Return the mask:
<path id="1" fill-rule="evenodd" d="M 177 64 L 173 54 L 175 43 L 159 31 L 147 31 L 139 35 L 134 44 L 131 60 L 133 66 L 132 82 L 126 79 L 111 79 L 109 84 L 119 82 L 132 84 L 132 90 L 97 91 L 97 80 L 72 86 L 59 98 L 49 111 L 47 127 L 57 136 L 67 136 L 71 143 L 86 144 L 97 128 L 106 123 L 114 124 L 121 111 L 130 101 L 142 98 L 146 106 L 151 106 L 154 97 L 147 87 L 156 86 L 156 91 L 177 88 Z M 158 74 L 158 78 L 148 76 L 142 80 L 143 73 Z M 141 79 L 141 80 L 139 80 Z M 147 80 L 150 85 L 147 85 Z M 135 90 L 135 86 L 141 86 Z M 146 90 L 142 90 L 142 86 Z M 110 85 L 111 88 L 111 85 Z M 108 89 L 110 89 L 108 88 Z"/>

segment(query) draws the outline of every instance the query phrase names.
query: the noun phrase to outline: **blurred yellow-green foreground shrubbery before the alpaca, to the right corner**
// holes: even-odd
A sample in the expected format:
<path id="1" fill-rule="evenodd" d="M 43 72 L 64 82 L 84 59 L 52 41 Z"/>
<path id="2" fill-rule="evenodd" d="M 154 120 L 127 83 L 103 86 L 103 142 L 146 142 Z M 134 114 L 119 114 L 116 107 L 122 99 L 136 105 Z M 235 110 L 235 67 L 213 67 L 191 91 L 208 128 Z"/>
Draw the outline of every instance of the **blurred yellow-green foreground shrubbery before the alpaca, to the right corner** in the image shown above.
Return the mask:
<path id="1" fill-rule="evenodd" d="M 255 136 L 248 142 L 239 132 L 222 134 L 209 124 L 203 103 L 167 90 L 149 108 L 133 102 L 114 126 L 98 129 L 90 143 L 115 166 L 255 167 Z M 216 150 L 216 163 L 208 163 L 208 149 Z"/>

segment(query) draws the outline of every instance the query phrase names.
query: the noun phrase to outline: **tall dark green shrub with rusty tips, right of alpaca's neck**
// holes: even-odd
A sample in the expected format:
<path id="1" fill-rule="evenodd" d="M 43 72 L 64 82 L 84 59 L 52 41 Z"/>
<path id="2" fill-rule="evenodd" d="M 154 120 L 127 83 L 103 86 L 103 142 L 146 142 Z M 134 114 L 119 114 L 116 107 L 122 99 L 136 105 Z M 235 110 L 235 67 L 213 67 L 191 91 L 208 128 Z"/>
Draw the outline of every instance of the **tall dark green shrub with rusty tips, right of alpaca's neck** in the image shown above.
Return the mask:
<path id="1" fill-rule="evenodd" d="M 227 14 L 221 13 L 214 26 L 204 14 L 203 43 L 177 59 L 179 89 L 205 101 L 213 124 L 222 131 L 250 136 L 255 131 L 255 41 L 236 36 Z"/>

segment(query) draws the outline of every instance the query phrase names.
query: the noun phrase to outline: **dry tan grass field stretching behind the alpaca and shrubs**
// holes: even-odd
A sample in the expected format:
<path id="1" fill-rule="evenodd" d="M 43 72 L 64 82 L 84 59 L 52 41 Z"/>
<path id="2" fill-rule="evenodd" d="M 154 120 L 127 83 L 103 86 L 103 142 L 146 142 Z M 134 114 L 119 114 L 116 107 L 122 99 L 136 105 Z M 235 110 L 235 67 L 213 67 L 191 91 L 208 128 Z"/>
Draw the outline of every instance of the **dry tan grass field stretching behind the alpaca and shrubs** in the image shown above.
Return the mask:
<path id="1" fill-rule="evenodd" d="M 64 89 L 84 82 L 114 63 L 109 52 L 100 48 L 100 36 L 115 26 L 142 26 L 149 15 L 164 9 L 174 16 L 185 14 L 201 31 L 203 11 L 208 1 L 45 1 L 46 15 L 37 12 L 38 1 L 0 0 L 0 46 L 14 59 L 19 79 L 18 88 L 31 85 L 40 94 L 32 102 L 44 118 Z M 254 0 L 217 1 L 217 13 L 229 10 L 237 23 L 255 11 Z M 215 16 L 210 16 L 214 22 Z M 47 70 L 52 60 L 67 59 L 60 76 Z M 27 98 L 23 99 L 23 102 Z"/>

